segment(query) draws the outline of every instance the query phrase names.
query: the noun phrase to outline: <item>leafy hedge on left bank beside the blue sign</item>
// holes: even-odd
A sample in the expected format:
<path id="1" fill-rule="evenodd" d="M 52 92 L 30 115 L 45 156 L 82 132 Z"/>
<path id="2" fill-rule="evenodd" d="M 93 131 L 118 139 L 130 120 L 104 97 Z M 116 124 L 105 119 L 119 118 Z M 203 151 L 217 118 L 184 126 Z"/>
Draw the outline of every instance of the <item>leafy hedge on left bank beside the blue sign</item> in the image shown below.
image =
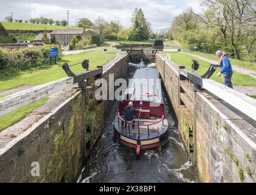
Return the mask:
<path id="1" fill-rule="evenodd" d="M 50 48 L 55 45 L 44 45 L 20 50 L 0 49 L 0 77 L 10 76 L 17 71 L 47 65 Z M 58 46 L 57 46 L 58 47 Z M 61 49 L 59 58 L 61 57 Z"/>

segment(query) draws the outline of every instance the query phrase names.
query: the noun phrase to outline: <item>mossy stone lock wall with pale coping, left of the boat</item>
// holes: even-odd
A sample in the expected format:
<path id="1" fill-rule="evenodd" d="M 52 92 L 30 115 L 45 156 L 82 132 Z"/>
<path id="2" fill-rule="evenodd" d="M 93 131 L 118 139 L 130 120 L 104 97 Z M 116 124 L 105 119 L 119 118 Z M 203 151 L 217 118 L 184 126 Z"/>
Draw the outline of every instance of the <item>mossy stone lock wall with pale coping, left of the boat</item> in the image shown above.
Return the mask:
<path id="1" fill-rule="evenodd" d="M 113 60 L 104 66 L 103 77 L 126 76 L 127 63 L 127 55 Z M 0 132 L 0 182 L 75 182 L 113 103 L 98 102 L 96 88 L 90 79 L 84 91 L 69 88 L 53 94 L 45 105 Z M 32 176 L 33 162 L 39 163 L 40 176 Z"/>

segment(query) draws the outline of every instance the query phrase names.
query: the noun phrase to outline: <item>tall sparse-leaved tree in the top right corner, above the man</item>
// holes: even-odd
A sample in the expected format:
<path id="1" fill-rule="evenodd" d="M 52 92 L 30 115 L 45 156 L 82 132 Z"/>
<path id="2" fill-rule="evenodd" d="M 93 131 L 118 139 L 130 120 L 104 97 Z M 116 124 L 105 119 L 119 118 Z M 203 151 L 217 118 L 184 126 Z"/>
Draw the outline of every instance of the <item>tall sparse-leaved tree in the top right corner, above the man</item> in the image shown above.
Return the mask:
<path id="1" fill-rule="evenodd" d="M 205 0 L 203 5 L 208 6 L 204 15 L 198 18 L 208 26 L 217 27 L 222 33 L 225 46 L 232 46 L 233 55 L 240 59 L 240 53 L 243 50 L 244 38 L 247 32 L 244 27 L 255 26 L 255 1 L 254 0 Z M 254 40 L 254 39 L 252 39 Z"/>

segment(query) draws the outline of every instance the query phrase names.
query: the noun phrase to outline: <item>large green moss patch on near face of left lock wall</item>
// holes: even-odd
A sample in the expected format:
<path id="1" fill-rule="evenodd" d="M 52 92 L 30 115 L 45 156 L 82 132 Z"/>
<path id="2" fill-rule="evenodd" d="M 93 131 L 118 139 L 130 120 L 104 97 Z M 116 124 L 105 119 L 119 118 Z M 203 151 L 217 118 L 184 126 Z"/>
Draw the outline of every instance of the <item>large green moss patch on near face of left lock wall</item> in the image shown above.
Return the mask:
<path id="1" fill-rule="evenodd" d="M 78 140 L 79 132 L 82 127 L 79 127 L 81 121 L 81 101 L 82 96 L 78 94 L 72 104 L 70 111 L 69 122 L 64 129 L 63 126 L 58 126 L 58 121 L 53 122 L 50 127 L 53 134 L 53 150 L 48 158 L 44 174 L 40 176 L 37 182 L 73 182 L 81 168 L 81 140 Z M 81 143 L 78 143 L 81 141 Z M 50 138 L 47 138 L 47 143 Z M 58 163 L 56 163 L 58 162 Z"/>

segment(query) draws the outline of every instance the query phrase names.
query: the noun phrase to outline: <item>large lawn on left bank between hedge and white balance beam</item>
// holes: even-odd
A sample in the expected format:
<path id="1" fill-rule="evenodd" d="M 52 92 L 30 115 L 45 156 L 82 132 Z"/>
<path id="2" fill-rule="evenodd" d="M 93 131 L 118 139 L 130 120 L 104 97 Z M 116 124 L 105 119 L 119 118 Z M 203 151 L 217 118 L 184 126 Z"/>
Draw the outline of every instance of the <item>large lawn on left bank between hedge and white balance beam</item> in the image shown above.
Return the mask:
<path id="1" fill-rule="evenodd" d="M 116 52 L 104 52 L 102 48 L 96 51 L 85 52 L 81 54 L 64 55 L 61 62 L 58 62 L 58 65 L 47 65 L 40 69 L 32 68 L 27 71 L 22 71 L 16 76 L 0 78 L 0 91 L 9 90 L 10 88 L 15 88 L 21 85 L 41 85 L 43 83 L 48 83 L 53 80 L 66 77 L 67 75 L 64 70 L 59 67 L 59 65 L 62 65 L 63 63 L 72 65 L 74 63 L 79 63 L 85 59 L 88 59 L 89 69 L 95 69 L 97 65 L 104 65 L 108 62 L 108 60 L 114 59 L 115 54 Z M 85 69 L 81 68 L 81 65 L 72 66 L 70 69 L 72 69 L 74 73 L 85 71 Z"/>

